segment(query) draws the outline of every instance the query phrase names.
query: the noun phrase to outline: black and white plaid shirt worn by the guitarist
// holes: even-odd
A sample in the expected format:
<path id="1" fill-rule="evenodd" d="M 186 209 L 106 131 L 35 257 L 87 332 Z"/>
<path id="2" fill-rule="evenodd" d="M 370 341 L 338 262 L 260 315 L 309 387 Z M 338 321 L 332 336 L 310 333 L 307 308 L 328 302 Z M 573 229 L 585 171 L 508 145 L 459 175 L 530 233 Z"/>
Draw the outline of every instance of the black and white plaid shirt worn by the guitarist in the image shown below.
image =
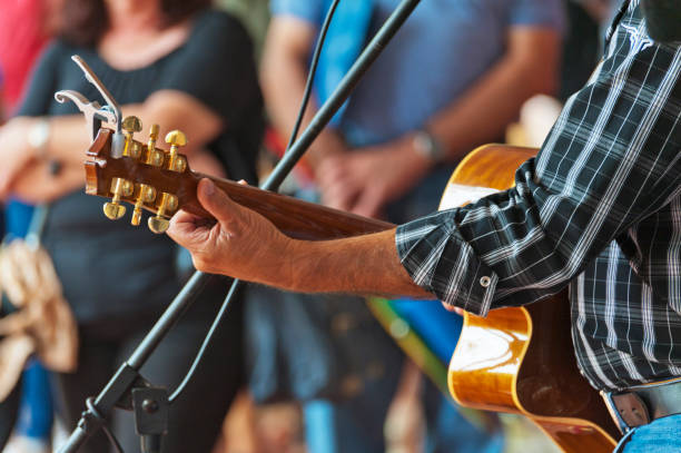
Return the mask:
<path id="1" fill-rule="evenodd" d="M 584 375 L 681 375 L 681 48 L 625 3 L 606 52 L 515 187 L 401 226 L 415 283 L 477 315 L 570 285 Z"/>

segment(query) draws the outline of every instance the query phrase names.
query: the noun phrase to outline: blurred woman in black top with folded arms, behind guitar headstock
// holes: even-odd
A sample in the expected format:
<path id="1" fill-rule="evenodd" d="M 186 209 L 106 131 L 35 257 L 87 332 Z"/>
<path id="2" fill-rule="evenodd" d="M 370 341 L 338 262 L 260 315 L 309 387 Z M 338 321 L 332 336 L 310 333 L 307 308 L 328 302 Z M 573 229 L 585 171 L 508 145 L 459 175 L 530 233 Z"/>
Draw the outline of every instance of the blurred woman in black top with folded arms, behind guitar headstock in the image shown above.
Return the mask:
<path id="1" fill-rule="evenodd" d="M 81 342 L 77 373 L 58 376 L 72 429 L 85 400 L 139 344 L 190 269 L 176 265 L 179 252 L 168 238 L 106 219 L 101 200 L 82 193 L 90 137 L 82 115 L 71 104 L 57 104 L 53 92 L 72 89 L 103 100 L 70 56 L 80 55 L 124 106 L 124 115 L 138 116 L 146 130 L 159 124 L 164 137 L 181 129 L 189 139 L 181 151 L 194 169 L 234 179 L 255 183 L 261 97 L 248 36 L 209 0 L 65 0 L 59 19 L 59 38 L 40 59 L 18 116 L 0 128 L 0 197 L 50 204 L 43 244 Z M 137 138 L 146 141 L 146 136 Z M 56 166 L 57 174 L 48 171 Z M 211 280 L 141 370 L 145 377 L 169 388 L 179 384 L 227 284 Z M 240 309 L 238 304 L 233 308 L 171 407 L 164 452 L 208 452 L 215 443 L 241 378 Z M 138 451 L 131 414 L 117 411 L 112 424 L 125 451 Z M 82 451 L 108 449 L 98 433 Z"/>

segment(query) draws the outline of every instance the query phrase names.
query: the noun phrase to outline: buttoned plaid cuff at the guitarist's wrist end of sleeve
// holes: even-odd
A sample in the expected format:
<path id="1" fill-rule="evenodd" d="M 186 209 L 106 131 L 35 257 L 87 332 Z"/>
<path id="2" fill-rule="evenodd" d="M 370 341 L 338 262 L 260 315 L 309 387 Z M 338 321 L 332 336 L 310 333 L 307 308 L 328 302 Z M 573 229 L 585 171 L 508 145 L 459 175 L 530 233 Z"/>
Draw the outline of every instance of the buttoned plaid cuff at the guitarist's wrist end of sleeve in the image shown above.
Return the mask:
<path id="1" fill-rule="evenodd" d="M 452 216 L 443 211 L 398 226 L 397 254 L 418 286 L 447 305 L 485 316 L 499 276 L 458 235 Z"/>

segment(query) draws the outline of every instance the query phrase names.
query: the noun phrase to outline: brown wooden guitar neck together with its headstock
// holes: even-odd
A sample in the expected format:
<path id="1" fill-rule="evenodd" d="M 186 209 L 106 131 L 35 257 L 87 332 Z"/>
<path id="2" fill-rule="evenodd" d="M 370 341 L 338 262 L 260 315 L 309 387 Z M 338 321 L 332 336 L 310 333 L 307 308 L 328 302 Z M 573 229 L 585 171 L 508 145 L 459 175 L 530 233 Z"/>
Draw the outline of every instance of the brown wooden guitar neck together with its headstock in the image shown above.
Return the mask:
<path id="1" fill-rule="evenodd" d="M 157 214 L 161 197 L 152 196 L 151 199 L 144 200 L 141 190 L 145 187 L 152 189 L 154 194 L 162 193 L 176 197 L 177 206 L 171 211 L 164 208 L 166 217 L 172 215 L 177 209 L 184 209 L 200 217 L 213 218 L 196 197 L 198 183 L 203 178 L 208 178 L 233 200 L 263 215 L 284 234 L 296 239 L 335 239 L 384 232 L 395 227 L 386 221 L 361 217 L 257 187 L 195 173 L 188 166 L 181 170 L 169 170 L 168 154 L 158 148 L 155 148 L 155 152 L 160 155 L 160 161 L 165 165 L 146 164 L 148 160 L 154 160 L 149 158 L 151 151 L 148 146 L 138 141 L 131 146 L 132 150 L 137 150 L 137 157 L 130 155 L 112 158 L 112 134 L 106 128 L 99 130 L 87 151 L 89 159 L 86 160 L 85 167 L 86 191 L 106 198 L 116 197 L 117 201 L 112 200 L 114 205 L 118 201 L 127 201 Z M 144 158 L 141 158 L 142 155 Z M 186 156 L 178 155 L 178 158 L 185 159 L 186 163 Z M 114 194 L 115 190 L 117 195 Z"/>

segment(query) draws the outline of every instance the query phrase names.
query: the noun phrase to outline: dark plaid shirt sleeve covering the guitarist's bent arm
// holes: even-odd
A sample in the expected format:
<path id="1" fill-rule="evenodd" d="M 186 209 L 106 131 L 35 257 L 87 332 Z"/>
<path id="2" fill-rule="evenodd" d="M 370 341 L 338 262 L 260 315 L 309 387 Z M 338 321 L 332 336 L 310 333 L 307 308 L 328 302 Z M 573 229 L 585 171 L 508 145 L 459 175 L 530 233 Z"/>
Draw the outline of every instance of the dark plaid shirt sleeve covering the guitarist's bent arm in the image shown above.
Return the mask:
<path id="1" fill-rule="evenodd" d="M 557 293 L 613 240 L 635 259 L 631 232 L 681 196 L 681 49 L 619 30 L 629 50 L 568 100 L 515 187 L 397 228 L 417 285 L 485 315 Z"/>

